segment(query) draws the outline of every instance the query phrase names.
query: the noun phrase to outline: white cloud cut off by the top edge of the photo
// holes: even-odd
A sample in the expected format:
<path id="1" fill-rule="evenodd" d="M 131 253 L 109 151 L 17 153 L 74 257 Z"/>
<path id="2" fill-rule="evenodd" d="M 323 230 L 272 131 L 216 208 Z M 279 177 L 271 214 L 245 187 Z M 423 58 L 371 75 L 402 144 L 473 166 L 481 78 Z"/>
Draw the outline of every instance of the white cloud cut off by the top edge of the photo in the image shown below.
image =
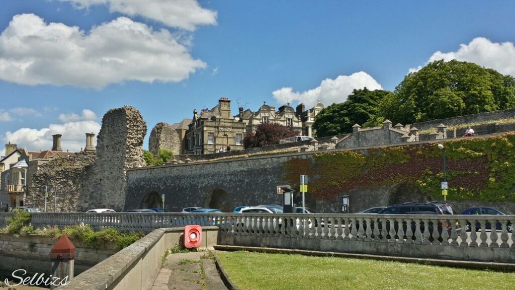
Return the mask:
<path id="1" fill-rule="evenodd" d="M 131 17 L 141 15 L 169 27 L 195 30 L 198 25 L 216 24 L 216 11 L 200 7 L 196 0 L 61 0 L 76 8 L 106 5 L 111 12 Z"/>

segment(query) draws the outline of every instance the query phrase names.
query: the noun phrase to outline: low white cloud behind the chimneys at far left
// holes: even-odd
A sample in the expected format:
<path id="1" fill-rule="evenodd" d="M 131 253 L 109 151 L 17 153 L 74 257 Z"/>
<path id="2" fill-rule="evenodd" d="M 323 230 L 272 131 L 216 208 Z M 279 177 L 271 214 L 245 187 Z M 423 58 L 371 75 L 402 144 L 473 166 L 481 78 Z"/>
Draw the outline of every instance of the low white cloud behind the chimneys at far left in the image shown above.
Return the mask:
<path id="1" fill-rule="evenodd" d="M 100 124 L 95 121 L 67 122 L 64 124 L 50 124 L 40 130 L 32 128 L 21 128 L 14 132 L 6 132 L 4 141 L 18 144 L 19 148 L 28 150 L 50 150 L 52 149 L 52 135 L 62 134 L 61 147 L 63 151 L 79 151 L 85 147 L 85 133 L 98 134 Z M 95 138 L 96 141 L 96 138 Z"/>

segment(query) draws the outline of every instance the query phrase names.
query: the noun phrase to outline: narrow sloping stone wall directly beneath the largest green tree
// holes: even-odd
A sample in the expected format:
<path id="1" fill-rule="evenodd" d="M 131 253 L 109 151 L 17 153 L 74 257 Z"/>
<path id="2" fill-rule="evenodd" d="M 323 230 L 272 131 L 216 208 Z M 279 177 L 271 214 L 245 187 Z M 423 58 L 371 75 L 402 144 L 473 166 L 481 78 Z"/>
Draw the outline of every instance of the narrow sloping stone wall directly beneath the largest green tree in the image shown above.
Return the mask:
<path id="1" fill-rule="evenodd" d="M 467 116 L 460 116 L 454 118 L 440 119 L 440 120 L 432 120 L 426 122 L 419 122 L 409 124 L 406 127 L 417 127 L 418 130 L 429 130 L 438 126 L 439 124 L 444 124 L 445 126 L 456 126 L 459 124 L 467 124 L 467 123 L 477 123 L 477 122 L 485 122 L 492 120 L 500 120 L 507 118 L 515 118 L 515 109 L 507 109 L 507 110 L 499 110 L 492 112 L 483 112 L 479 114 L 472 114 Z"/>

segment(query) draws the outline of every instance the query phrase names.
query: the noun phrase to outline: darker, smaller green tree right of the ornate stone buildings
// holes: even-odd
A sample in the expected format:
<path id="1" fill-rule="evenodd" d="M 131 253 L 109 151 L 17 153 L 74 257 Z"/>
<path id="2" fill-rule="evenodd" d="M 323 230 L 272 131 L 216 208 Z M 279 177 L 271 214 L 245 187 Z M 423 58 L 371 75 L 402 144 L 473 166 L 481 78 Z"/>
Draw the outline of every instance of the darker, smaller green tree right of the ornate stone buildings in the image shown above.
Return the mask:
<path id="1" fill-rule="evenodd" d="M 324 108 L 315 117 L 313 128 L 318 137 L 345 134 L 352 132 L 354 124 L 374 126 L 384 118 L 378 117 L 378 106 L 381 100 L 392 93 L 385 90 L 354 90 L 347 101 L 332 104 Z"/>

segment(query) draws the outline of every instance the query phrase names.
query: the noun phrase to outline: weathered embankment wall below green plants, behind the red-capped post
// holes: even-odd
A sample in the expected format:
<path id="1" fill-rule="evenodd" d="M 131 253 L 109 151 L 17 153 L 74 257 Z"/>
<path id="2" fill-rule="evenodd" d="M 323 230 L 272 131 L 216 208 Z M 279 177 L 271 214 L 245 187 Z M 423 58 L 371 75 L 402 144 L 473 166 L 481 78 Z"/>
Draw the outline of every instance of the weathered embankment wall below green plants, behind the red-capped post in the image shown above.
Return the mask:
<path id="1" fill-rule="evenodd" d="M 28 274 L 50 273 L 50 250 L 57 239 L 37 235 L 13 236 L 0 234 L 0 275 L 24 269 Z M 114 244 L 91 249 L 81 241 L 73 241 L 76 249 L 75 273 L 79 274 L 117 252 Z"/>

